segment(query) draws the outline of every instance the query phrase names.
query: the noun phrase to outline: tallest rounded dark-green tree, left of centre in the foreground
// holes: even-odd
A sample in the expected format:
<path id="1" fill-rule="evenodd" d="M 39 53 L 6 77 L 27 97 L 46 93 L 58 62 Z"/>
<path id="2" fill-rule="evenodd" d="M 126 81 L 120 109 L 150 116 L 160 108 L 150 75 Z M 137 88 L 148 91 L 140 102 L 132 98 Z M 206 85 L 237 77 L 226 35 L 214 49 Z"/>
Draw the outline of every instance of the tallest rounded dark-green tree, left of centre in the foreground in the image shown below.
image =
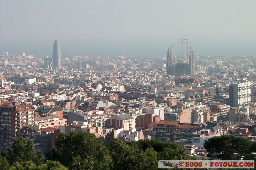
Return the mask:
<path id="1" fill-rule="evenodd" d="M 72 131 L 69 135 L 60 133 L 55 140 L 55 147 L 47 153 L 47 158 L 69 166 L 72 164 L 73 158 L 77 156 L 80 156 L 82 160 L 87 156 L 92 156 L 93 160 L 101 160 L 107 155 L 108 150 L 93 134 Z"/>

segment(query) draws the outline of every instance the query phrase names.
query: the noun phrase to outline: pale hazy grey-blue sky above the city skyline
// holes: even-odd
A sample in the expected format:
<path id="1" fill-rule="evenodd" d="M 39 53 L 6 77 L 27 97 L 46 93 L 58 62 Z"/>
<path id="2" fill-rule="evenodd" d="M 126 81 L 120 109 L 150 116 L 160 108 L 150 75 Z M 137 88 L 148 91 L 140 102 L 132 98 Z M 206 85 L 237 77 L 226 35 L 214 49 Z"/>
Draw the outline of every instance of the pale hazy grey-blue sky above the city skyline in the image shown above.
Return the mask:
<path id="1" fill-rule="evenodd" d="M 0 0 L 0 54 L 116 57 L 256 55 L 255 0 Z M 184 54 L 187 47 L 184 46 Z"/>

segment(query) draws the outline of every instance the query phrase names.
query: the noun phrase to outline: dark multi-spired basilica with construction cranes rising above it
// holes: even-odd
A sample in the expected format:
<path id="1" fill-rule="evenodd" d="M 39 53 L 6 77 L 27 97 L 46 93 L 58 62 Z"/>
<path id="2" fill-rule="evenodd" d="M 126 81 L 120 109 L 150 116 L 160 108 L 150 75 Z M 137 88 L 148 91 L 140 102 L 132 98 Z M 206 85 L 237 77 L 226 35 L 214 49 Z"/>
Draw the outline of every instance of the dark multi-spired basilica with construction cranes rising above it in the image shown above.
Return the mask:
<path id="1" fill-rule="evenodd" d="M 194 50 L 190 47 L 189 63 L 173 63 L 172 61 L 172 50 L 168 48 L 167 51 L 167 62 L 166 62 L 167 74 L 172 76 L 189 75 L 195 72 L 195 60 Z"/>

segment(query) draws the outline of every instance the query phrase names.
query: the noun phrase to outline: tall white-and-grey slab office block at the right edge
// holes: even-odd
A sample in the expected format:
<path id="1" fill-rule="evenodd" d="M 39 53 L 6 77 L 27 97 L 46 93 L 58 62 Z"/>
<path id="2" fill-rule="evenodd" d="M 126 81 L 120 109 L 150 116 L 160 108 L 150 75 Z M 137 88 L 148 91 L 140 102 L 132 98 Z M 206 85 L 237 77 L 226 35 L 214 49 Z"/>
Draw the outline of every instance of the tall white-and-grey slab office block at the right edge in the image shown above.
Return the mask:
<path id="1" fill-rule="evenodd" d="M 241 80 L 241 83 L 230 83 L 229 104 L 232 107 L 244 106 L 251 103 L 251 82 Z"/>

